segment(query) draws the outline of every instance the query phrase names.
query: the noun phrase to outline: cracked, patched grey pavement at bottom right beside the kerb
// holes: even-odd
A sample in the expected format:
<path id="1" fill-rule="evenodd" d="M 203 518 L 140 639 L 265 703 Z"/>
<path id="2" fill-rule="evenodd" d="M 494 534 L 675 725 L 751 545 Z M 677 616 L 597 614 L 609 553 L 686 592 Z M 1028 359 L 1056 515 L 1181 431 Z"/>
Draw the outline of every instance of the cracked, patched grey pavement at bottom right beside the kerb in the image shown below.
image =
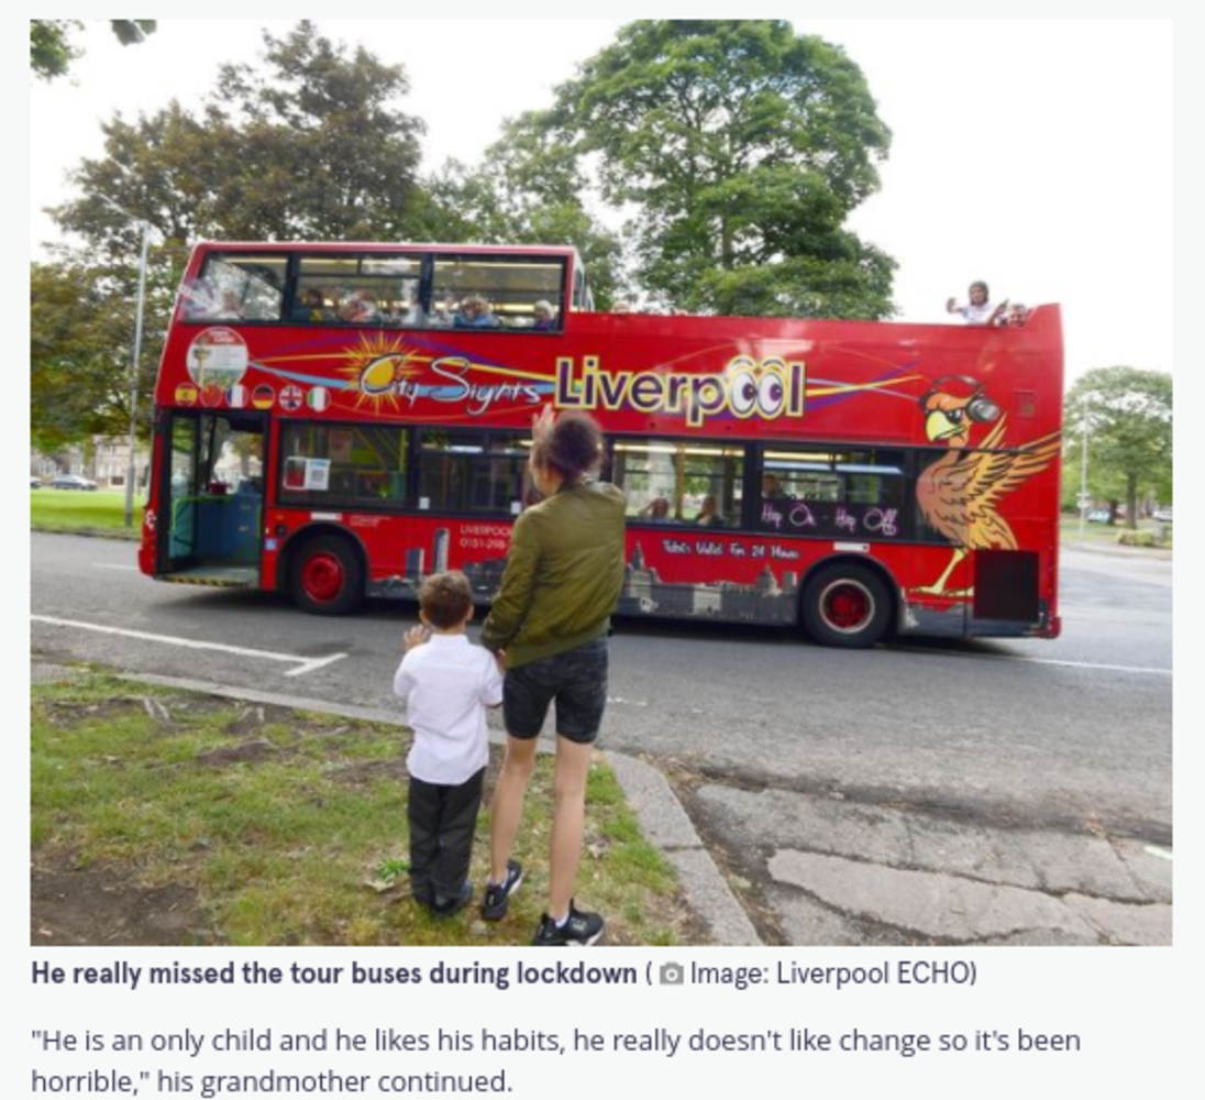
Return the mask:
<path id="1" fill-rule="evenodd" d="M 1169 837 L 675 784 L 768 944 L 1170 944 Z"/>

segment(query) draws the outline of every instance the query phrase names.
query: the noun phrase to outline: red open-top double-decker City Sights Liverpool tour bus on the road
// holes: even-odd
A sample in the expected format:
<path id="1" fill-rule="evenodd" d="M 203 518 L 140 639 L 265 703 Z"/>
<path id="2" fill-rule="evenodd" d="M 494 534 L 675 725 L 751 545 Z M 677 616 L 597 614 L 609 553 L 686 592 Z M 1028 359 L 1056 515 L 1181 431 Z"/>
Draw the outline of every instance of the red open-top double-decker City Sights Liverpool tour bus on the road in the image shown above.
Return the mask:
<path id="1" fill-rule="evenodd" d="M 602 314 L 562 247 L 201 244 L 155 388 L 140 566 L 340 614 L 482 602 L 543 405 L 602 425 L 621 613 L 1056 637 L 1057 306 L 1021 328 Z"/>

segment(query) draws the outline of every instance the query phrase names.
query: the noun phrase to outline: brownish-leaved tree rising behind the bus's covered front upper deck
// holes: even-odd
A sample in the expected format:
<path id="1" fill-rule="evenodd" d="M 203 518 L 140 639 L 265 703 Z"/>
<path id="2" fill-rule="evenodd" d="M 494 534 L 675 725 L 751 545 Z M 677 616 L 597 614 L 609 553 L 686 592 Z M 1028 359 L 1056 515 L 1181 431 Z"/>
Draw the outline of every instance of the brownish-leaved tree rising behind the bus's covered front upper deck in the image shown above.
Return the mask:
<path id="1" fill-rule="evenodd" d="M 301 22 L 264 33 L 259 65 L 224 65 L 199 110 L 177 101 L 104 123 L 105 156 L 72 182 L 84 198 L 53 211 L 94 246 L 145 218 L 169 241 L 369 240 L 404 230 L 423 123 L 400 109 L 401 66 L 349 52 Z"/>

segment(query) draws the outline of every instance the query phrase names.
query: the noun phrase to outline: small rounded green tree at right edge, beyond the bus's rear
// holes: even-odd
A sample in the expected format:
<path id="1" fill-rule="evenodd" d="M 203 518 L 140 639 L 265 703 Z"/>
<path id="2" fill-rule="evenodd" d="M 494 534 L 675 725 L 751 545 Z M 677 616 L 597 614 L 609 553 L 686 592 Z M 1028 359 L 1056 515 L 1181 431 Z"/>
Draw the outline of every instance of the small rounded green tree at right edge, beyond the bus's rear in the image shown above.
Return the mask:
<path id="1" fill-rule="evenodd" d="M 1076 379 L 1066 394 L 1064 469 L 1082 469 L 1088 446 L 1088 492 L 1125 504 L 1138 522 L 1139 501 L 1171 499 L 1171 375 L 1134 367 L 1101 367 Z"/>

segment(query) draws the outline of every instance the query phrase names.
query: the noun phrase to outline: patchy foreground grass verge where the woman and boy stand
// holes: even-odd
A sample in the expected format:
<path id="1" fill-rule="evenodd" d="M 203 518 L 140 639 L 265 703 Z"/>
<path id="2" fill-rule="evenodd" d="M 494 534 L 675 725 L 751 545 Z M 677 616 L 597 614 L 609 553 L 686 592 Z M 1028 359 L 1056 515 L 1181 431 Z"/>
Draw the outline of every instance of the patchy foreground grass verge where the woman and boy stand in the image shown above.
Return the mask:
<path id="1" fill-rule="evenodd" d="M 547 890 L 552 761 L 541 755 L 510 915 L 436 918 L 406 882 L 410 731 L 99 674 L 31 690 L 31 942 L 48 944 L 530 943 Z M 499 750 L 493 750 L 496 754 Z M 472 876 L 484 879 L 486 779 Z M 581 903 L 604 943 L 700 936 L 672 867 L 595 760 Z"/>

